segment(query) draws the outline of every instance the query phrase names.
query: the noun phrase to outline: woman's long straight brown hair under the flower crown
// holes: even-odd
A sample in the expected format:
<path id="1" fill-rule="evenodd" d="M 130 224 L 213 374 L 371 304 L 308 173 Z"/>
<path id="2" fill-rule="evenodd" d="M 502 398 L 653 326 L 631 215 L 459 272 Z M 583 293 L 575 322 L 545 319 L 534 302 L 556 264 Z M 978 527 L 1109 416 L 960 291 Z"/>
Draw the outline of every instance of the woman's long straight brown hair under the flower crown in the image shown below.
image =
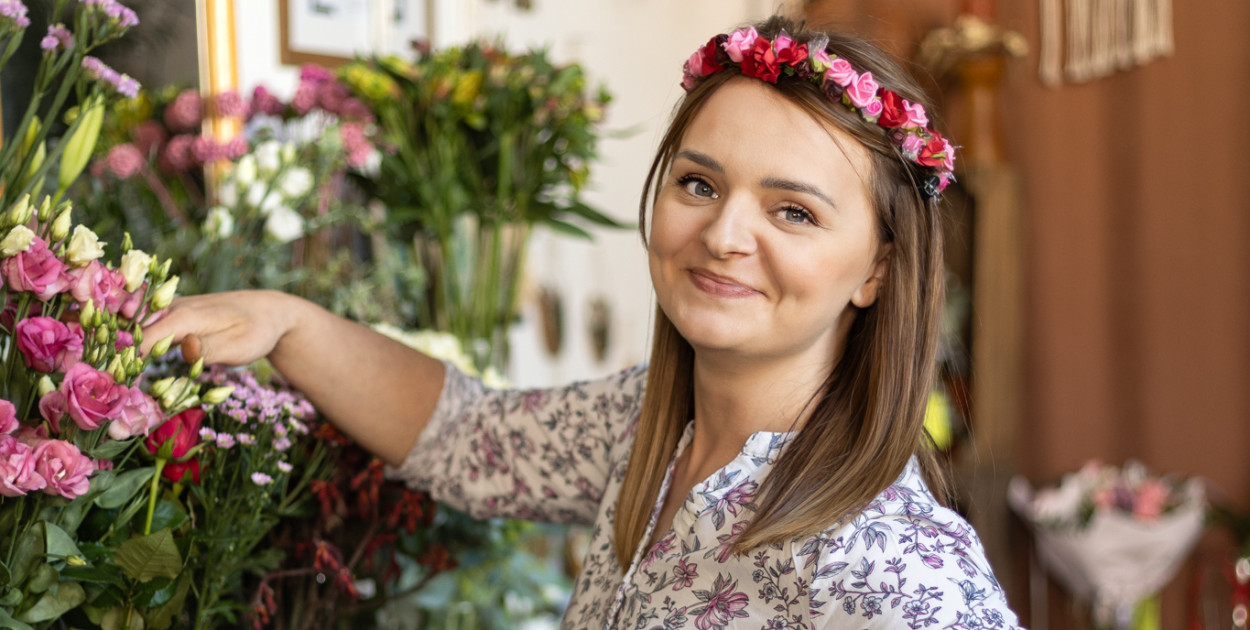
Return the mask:
<path id="1" fill-rule="evenodd" d="M 755 28 L 770 39 L 785 30 L 796 42 L 818 35 L 784 18 Z M 909 101 L 928 105 L 915 80 L 886 52 L 854 36 L 822 35 L 829 36 L 830 54 L 861 72 L 871 71 Z M 678 105 L 642 188 L 644 242 L 648 208 L 660 194 L 686 130 L 711 95 L 735 76 L 739 72 L 708 76 Z M 899 155 L 882 129 L 830 101 L 805 80 L 782 75 L 775 88 L 815 120 L 869 149 L 878 236 L 892 249 L 876 302 L 856 314 L 841 358 L 811 401 L 811 415 L 761 484 L 755 518 L 735 541 L 738 552 L 812 535 L 854 518 L 898 479 L 912 456 L 920 459 L 935 494 L 944 498 L 946 492 L 945 475 L 924 430 L 944 301 L 939 204 L 920 192 L 924 174 Z M 616 506 L 616 558 L 622 570 L 642 541 L 666 465 L 694 409 L 692 371 L 694 349 L 658 308 L 646 394 Z"/>

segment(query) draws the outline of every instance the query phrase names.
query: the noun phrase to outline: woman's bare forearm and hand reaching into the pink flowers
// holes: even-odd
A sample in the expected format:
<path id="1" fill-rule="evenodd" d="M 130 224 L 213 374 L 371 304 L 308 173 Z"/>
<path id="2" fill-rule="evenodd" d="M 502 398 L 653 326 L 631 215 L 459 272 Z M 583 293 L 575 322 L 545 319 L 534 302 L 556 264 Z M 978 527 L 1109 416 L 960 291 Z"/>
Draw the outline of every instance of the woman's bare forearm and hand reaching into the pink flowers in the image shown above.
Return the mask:
<path id="1" fill-rule="evenodd" d="M 268 356 L 340 430 L 390 464 L 404 461 L 442 391 L 440 361 L 279 291 L 180 298 L 144 329 L 142 352 L 169 335 L 189 361 Z"/>

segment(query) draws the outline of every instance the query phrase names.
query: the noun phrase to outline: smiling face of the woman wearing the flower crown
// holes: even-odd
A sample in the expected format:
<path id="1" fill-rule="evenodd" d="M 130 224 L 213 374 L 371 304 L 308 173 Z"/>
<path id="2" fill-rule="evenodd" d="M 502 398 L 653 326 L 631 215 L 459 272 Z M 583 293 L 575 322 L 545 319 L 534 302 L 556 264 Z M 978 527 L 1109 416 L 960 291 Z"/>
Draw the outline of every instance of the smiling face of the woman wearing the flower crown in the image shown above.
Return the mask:
<path id="1" fill-rule="evenodd" d="M 869 176 L 864 146 L 759 81 L 710 98 L 649 239 L 660 306 L 700 356 L 836 361 L 888 264 Z"/>

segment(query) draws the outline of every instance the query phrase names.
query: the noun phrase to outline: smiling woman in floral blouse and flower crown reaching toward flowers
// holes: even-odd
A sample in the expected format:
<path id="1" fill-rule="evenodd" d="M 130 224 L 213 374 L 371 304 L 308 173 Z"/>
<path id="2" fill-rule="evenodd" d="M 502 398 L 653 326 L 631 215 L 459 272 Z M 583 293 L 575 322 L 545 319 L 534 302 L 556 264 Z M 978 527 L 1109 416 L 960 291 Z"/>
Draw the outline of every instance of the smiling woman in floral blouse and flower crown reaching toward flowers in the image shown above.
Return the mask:
<path id="1" fill-rule="evenodd" d="M 651 362 L 491 391 L 275 292 L 175 304 L 188 356 L 268 355 L 392 474 L 594 524 L 565 628 L 1015 628 L 922 430 L 954 149 L 864 42 L 719 35 L 644 188 Z M 348 351 L 350 349 L 350 351 Z"/>

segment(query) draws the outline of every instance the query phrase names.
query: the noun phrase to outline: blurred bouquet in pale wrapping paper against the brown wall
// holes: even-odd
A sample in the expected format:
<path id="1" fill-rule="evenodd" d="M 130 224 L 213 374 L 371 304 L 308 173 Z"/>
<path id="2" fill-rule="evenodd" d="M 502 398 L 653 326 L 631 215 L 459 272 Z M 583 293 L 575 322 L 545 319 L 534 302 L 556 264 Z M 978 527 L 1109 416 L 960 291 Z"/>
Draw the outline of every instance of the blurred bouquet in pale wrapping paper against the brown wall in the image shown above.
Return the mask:
<path id="1" fill-rule="evenodd" d="M 1008 501 L 1032 528 L 1042 565 L 1092 602 L 1099 625 L 1115 628 L 1134 625 L 1139 604 L 1171 580 L 1206 512 L 1200 480 L 1151 475 L 1135 461 L 1090 462 L 1036 491 L 1016 478 Z"/>

